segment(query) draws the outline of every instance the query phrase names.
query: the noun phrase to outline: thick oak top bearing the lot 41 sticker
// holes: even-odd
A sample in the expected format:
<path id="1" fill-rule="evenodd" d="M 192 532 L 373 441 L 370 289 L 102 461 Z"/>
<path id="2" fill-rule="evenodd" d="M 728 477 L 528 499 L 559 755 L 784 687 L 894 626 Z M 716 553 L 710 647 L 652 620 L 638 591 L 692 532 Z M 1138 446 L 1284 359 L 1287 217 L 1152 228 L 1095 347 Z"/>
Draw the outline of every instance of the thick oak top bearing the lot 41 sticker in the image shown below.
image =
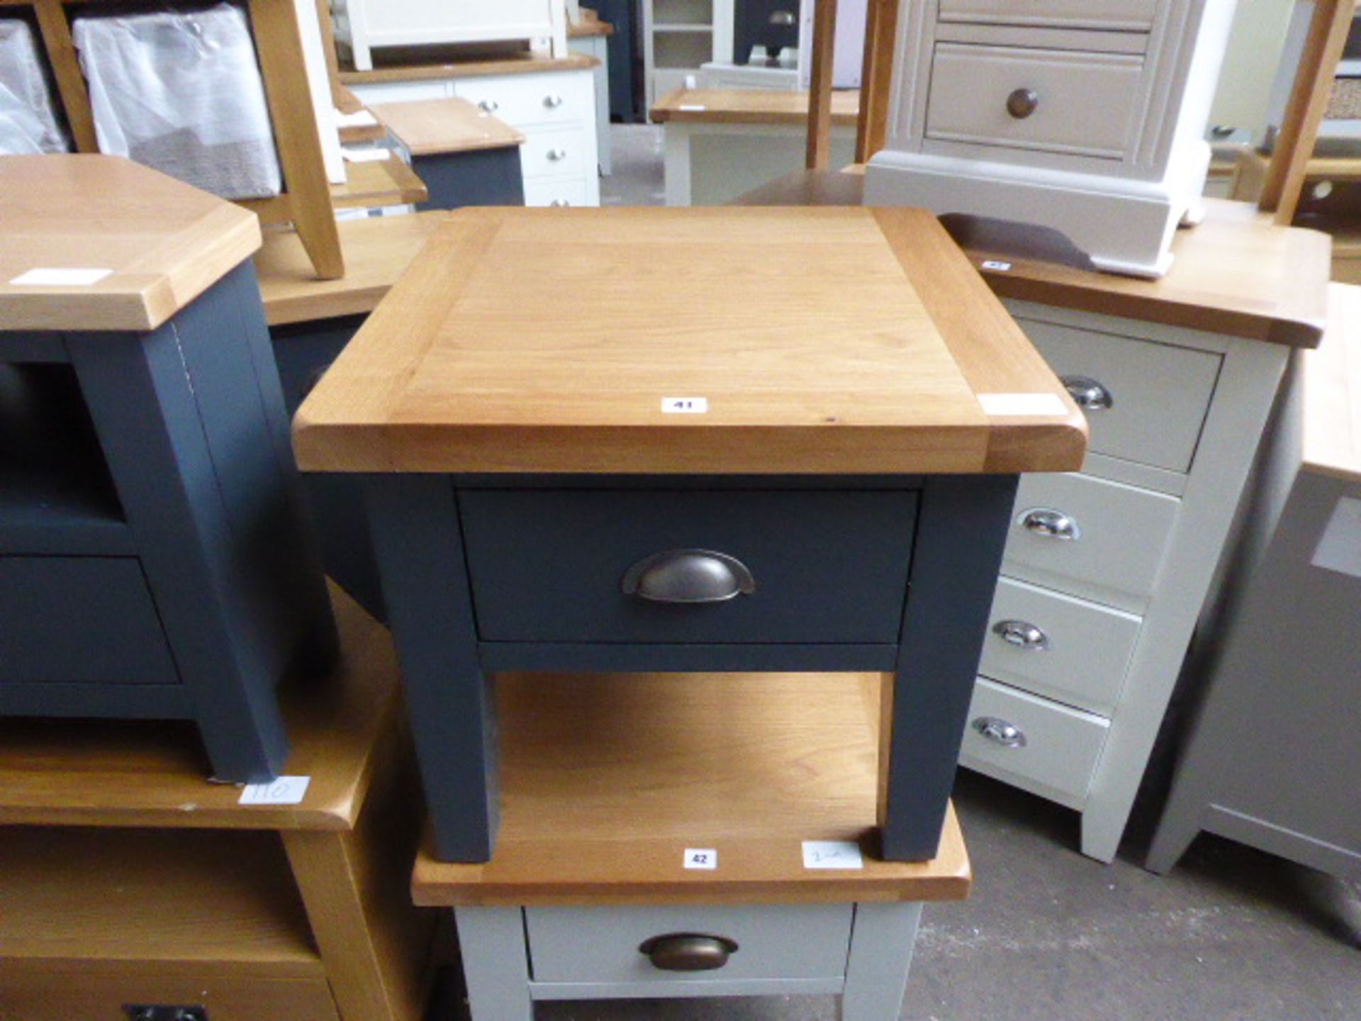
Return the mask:
<path id="1" fill-rule="evenodd" d="M 1086 425 L 928 212 L 471 208 L 294 447 L 306 471 L 1021 472 L 1079 467 Z"/>

